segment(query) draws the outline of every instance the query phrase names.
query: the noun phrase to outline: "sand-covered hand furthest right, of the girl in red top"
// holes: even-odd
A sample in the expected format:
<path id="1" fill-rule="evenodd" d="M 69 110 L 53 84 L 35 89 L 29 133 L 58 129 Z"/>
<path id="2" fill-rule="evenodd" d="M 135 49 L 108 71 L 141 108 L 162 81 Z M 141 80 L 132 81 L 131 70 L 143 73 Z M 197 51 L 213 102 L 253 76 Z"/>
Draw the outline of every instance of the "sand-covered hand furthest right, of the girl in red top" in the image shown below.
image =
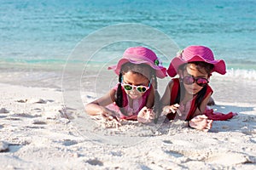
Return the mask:
<path id="1" fill-rule="evenodd" d="M 189 121 L 189 126 L 204 132 L 212 128 L 212 120 L 208 120 L 205 115 L 195 116 Z"/>

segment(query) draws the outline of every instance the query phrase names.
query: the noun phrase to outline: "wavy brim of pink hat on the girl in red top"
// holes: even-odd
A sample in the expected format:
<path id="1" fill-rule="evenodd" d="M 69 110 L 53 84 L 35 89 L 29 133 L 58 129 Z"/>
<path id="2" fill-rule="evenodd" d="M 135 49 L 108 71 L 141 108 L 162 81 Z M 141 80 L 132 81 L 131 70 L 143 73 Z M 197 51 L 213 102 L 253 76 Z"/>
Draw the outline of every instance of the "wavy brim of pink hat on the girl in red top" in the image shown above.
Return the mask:
<path id="1" fill-rule="evenodd" d="M 212 72 L 215 71 L 222 75 L 226 73 L 226 65 L 223 59 L 207 60 L 202 58 L 200 55 L 195 55 L 189 60 L 183 60 L 180 57 L 176 56 L 174 59 L 172 59 L 167 73 L 170 77 L 175 77 L 177 75 L 177 70 L 180 65 L 194 61 L 202 61 L 214 65 Z"/>

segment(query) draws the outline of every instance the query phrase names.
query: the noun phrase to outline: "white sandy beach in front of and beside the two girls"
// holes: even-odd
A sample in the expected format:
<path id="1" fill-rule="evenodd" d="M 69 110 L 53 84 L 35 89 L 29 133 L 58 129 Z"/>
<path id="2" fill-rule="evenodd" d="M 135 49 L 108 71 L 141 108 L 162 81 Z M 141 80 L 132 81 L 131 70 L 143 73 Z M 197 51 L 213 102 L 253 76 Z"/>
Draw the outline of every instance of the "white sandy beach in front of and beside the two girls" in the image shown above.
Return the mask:
<path id="1" fill-rule="evenodd" d="M 123 122 L 116 128 L 109 122 L 91 124 L 83 115 L 79 122 L 70 121 L 63 115 L 58 89 L 0 84 L 0 94 L 0 169 L 256 167 L 255 104 L 217 101 L 216 111 L 238 116 L 213 122 L 212 130 L 204 133 L 183 122 Z M 66 112 L 76 115 L 74 108 Z"/>

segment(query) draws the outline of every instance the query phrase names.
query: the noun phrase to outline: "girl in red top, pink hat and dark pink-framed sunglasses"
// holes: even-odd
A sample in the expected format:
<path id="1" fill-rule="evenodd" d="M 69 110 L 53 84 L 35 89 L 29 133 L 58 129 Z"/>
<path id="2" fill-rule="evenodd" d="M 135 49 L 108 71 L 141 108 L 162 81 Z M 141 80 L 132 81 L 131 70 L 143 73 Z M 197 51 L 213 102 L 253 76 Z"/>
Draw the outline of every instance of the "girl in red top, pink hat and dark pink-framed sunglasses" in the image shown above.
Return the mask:
<path id="1" fill-rule="evenodd" d="M 172 59 L 167 70 L 173 78 L 161 99 L 163 113 L 168 120 L 181 119 L 189 122 L 189 127 L 208 131 L 212 127 L 204 112 L 212 95 L 208 85 L 213 71 L 224 75 L 226 67 L 223 59 L 214 59 L 212 50 L 204 46 L 184 48 Z"/>

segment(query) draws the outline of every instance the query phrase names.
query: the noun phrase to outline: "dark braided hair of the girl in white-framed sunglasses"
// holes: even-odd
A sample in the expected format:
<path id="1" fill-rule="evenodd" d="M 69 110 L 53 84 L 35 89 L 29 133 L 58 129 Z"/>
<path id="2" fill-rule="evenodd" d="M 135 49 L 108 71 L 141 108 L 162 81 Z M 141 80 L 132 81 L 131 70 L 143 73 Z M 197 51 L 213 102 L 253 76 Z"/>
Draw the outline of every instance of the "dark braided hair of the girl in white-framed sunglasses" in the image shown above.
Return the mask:
<path id="1" fill-rule="evenodd" d="M 144 75 L 142 73 L 145 68 L 148 68 L 148 71 L 149 71 L 148 75 Z M 125 106 L 123 105 L 123 91 L 122 91 L 121 82 L 122 82 L 123 74 L 125 74 L 128 71 L 132 71 L 133 73 L 136 73 L 136 74 L 141 74 L 144 77 L 147 77 L 148 79 L 150 79 L 150 77 L 154 77 L 154 112 L 158 113 L 160 111 L 160 94 L 157 91 L 158 83 L 157 83 L 157 78 L 156 78 L 154 69 L 146 64 L 132 64 L 132 63 L 125 63 L 124 65 L 122 65 L 121 70 L 119 72 L 119 86 L 115 96 L 115 103 L 116 105 L 119 106 L 120 111 L 124 113 L 124 106 Z"/>

